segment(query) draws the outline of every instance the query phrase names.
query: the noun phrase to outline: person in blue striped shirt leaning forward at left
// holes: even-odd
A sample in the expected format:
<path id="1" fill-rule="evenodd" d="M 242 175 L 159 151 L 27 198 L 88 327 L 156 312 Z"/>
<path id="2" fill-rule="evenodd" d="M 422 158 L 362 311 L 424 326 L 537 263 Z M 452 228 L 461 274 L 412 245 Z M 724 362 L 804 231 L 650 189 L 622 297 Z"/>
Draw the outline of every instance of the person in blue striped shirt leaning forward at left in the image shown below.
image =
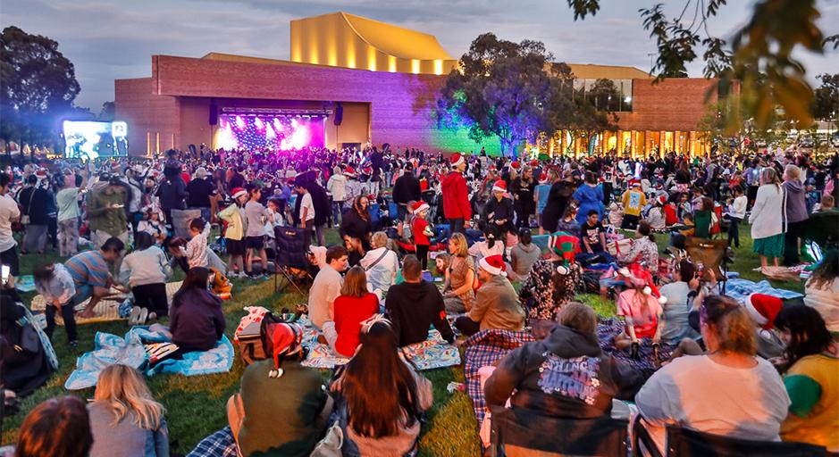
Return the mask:
<path id="1" fill-rule="evenodd" d="M 83 303 L 90 299 L 81 317 L 92 318 L 96 304 L 112 296 L 111 287 L 128 293 L 128 288 L 114 280 L 108 269 L 109 262 L 122 258 L 124 249 L 125 245 L 120 238 L 111 237 L 100 249 L 77 253 L 64 262 L 64 267 L 70 273 L 76 287 L 73 303 Z"/>

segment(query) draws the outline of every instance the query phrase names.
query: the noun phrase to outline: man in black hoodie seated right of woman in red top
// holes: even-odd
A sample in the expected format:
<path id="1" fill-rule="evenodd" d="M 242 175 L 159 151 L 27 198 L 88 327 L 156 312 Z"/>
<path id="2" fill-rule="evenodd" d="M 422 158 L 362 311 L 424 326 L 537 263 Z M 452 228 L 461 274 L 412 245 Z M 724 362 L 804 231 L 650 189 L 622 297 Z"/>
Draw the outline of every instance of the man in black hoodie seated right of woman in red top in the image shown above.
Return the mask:
<path id="1" fill-rule="evenodd" d="M 454 343 L 455 334 L 446 320 L 446 309 L 440 289 L 423 280 L 423 267 L 415 255 L 407 255 L 402 262 L 405 282 L 388 289 L 384 307 L 390 316 L 393 333 L 399 345 L 413 345 L 428 338 L 428 328 L 434 325 L 440 336 Z"/>

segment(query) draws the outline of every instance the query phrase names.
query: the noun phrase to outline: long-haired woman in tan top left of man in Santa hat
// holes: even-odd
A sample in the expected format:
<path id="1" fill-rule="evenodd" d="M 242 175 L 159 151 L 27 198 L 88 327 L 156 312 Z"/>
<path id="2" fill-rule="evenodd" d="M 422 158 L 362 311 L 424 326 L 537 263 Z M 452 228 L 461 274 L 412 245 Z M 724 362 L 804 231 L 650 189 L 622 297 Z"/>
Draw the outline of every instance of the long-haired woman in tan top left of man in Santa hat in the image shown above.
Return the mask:
<path id="1" fill-rule="evenodd" d="M 452 313 L 468 312 L 474 300 L 474 260 L 469 255 L 469 244 L 462 233 L 449 237 L 451 263 L 443 287 L 443 302 L 446 311 Z"/>

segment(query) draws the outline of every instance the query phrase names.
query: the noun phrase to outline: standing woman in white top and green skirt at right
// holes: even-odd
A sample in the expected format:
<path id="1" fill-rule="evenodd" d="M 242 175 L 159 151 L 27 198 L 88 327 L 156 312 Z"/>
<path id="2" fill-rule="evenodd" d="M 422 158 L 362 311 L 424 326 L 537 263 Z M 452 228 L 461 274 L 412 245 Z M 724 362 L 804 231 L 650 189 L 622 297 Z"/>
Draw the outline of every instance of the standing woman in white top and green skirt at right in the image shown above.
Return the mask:
<path id="1" fill-rule="evenodd" d="M 786 231 L 786 208 L 784 187 L 773 168 L 760 172 L 760 187 L 751 207 L 749 223 L 752 251 L 760 255 L 760 270 L 768 266 L 768 259 L 778 266 L 778 258 L 784 256 L 784 232 Z"/>

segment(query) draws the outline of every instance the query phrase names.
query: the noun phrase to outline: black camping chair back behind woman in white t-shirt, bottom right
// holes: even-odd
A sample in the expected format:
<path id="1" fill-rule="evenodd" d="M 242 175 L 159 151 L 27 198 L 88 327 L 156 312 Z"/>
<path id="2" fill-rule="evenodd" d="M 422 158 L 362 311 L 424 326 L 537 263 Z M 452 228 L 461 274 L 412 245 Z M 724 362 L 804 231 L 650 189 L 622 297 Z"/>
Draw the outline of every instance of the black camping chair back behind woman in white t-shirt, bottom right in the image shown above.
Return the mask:
<path id="1" fill-rule="evenodd" d="M 643 446 L 643 452 L 641 449 Z M 712 435 L 690 428 L 667 426 L 667 452 L 659 448 L 644 428 L 641 415 L 633 421 L 633 456 L 650 457 L 823 457 L 831 455 L 818 445 L 782 441 L 755 441 L 751 439 Z"/>

